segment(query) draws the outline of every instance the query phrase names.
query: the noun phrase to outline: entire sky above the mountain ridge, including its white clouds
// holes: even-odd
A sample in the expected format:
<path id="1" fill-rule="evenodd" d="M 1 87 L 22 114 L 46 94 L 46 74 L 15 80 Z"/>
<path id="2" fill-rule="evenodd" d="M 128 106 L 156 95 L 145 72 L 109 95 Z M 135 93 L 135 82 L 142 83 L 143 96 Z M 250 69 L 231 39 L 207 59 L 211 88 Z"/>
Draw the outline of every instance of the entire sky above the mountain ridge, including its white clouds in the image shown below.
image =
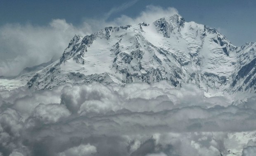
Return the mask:
<path id="1" fill-rule="evenodd" d="M 235 46 L 256 41 L 254 0 L 1 0 L 0 76 L 57 60 L 75 34 L 179 14 Z"/>

